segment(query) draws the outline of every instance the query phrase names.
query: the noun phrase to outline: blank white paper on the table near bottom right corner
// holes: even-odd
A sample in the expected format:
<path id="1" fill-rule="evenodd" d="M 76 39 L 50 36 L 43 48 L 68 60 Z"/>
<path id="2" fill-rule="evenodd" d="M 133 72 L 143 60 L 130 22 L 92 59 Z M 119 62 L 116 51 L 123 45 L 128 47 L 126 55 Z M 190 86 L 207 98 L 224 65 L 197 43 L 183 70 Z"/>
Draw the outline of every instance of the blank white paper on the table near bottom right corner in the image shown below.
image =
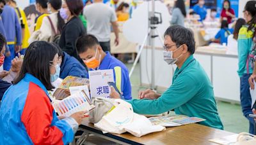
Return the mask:
<path id="1" fill-rule="evenodd" d="M 209 141 L 214 142 L 216 144 L 234 144 L 237 141 L 237 137 L 239 134 L 234 134 L 234 135 L 228 135 L 225 137 L 221 137 L 218 139 L 209 139 Z"/>

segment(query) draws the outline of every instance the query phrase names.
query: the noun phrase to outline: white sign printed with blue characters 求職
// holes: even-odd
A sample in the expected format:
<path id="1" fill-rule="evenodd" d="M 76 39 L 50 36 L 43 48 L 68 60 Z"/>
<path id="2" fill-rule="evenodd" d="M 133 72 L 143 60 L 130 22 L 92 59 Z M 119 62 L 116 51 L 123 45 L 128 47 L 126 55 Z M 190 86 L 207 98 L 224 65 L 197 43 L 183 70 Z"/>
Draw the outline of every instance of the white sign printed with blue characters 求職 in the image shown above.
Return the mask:
<path id="1" fill-rule="evenodd" d="M 91 97 L 109 97 L 108 82 L 114 82 L 113 69 L 89 71 Z"/>

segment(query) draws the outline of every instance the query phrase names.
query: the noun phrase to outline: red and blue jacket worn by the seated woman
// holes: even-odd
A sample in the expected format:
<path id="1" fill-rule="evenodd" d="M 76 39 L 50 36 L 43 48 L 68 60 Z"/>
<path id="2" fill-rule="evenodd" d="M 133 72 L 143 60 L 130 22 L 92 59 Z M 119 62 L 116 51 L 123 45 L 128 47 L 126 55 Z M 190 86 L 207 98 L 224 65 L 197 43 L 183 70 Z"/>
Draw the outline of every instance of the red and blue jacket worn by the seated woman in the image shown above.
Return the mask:
<path id="1" fill-rule="evenodd" d="M 4 93 L 0 106 L 0 144 L 68 144 L 74 130 L 59 120 L 45 86 L 31 74 Z"/>

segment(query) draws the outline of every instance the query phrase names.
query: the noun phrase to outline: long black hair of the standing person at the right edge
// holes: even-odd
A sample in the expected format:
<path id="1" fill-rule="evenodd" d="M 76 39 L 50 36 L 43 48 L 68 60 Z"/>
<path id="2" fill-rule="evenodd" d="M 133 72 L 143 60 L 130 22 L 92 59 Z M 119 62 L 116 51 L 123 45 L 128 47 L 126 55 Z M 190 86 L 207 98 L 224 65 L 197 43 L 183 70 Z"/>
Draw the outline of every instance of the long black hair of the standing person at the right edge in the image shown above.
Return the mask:
<path id="1" fill-rule="evenodd" d="M 256 25 L 256 1 L 248 1 L 244 6 L 244 11 L 248 11 L 248 13 L 252 16 L 252 20 L 247 22 L 249 25 L 248 31 L 254 29 Z M 256 31 L 256 30 L 255 30 Z M 255 36 L 255 32 L 253 33 L 253 37 Z"/>

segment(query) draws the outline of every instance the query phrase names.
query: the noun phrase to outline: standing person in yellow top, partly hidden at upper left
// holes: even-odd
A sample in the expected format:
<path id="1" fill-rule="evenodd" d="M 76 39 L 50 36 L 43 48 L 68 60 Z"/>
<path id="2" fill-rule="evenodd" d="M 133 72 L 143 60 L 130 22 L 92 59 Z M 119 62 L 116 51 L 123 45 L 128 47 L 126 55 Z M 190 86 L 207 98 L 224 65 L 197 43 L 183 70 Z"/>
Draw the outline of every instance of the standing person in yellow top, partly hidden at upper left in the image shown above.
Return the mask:
<path id="1" fill-rule="evenodd" d="M 30 32 L 29 32 L 29 29 L 28 29 L 27 17 L 26 17 L 26 14 L 24 13 L 24 11 L 17 6 L 16 1 L 11 0 L 10 1 L 10 6 L 12 6 L 15 9 L 16 14 L 17 14 L 17 16 L 18 16 L 18 18 L 20 20 L 20 27 L 22 29 L 22 46 L 21 46 L 20 54 L 24 55 L 25 52 L 26 52 L 26 49 L 29 46 L 28 39 L 30 37 Z"/>

